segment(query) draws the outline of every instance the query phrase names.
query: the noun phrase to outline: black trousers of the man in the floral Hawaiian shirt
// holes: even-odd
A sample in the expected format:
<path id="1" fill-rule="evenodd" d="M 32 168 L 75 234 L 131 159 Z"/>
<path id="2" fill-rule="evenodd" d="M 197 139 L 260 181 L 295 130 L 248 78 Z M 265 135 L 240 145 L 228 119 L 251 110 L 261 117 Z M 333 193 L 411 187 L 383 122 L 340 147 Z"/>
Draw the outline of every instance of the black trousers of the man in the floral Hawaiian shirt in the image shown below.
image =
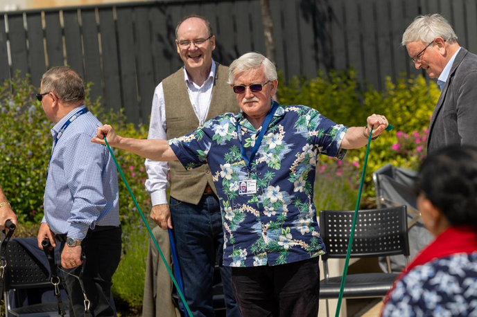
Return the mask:
<path id="1" fill-rule="evenodd" d="M 316 317 L 319 257 L 276 266 L 232 267 L 232 288 L 243 317 Z"/>

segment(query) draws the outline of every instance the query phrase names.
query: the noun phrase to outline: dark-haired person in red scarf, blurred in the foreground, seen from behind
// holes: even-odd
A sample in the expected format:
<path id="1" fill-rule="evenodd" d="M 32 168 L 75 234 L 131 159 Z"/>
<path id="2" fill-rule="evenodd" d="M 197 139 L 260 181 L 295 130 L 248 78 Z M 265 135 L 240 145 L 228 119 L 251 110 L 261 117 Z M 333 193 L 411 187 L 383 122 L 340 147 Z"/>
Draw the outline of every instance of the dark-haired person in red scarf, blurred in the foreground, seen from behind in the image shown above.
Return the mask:
<path id="1" fill-rule="evenodd" d="M 382 316 L 477 316 L 477 148 L 428 156 L 417 192 L 435 240 L 394 282 Z"/>

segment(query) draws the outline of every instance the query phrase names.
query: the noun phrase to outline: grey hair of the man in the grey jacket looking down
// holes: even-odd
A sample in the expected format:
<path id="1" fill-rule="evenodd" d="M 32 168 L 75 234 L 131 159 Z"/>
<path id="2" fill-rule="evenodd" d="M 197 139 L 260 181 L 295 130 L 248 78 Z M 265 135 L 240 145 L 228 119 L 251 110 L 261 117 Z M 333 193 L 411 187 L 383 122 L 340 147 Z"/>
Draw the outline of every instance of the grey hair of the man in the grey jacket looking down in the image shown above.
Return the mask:
<path id="1" fill-rule="evenodd" d="M 419 15 L 406 28 L 401 44 L 406 46 L 410 42 L 417 41 L 431 43 L 436 37 L 442 37 L 449 43 L 457 41 L 457 35 L 451 24 L 442 15 Z"/>

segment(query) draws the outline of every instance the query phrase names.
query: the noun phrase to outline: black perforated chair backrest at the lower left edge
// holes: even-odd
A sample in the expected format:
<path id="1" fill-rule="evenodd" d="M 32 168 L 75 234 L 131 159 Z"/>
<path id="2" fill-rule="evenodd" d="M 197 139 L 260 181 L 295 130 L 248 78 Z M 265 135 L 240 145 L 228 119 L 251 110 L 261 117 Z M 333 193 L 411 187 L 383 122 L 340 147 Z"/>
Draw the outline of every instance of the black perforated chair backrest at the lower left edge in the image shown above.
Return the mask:
<path id="1" fill-rule="evenodd" d="M 6 289 L 49 287 L 49 271 L 15 239 L 7 244 Z"/>

